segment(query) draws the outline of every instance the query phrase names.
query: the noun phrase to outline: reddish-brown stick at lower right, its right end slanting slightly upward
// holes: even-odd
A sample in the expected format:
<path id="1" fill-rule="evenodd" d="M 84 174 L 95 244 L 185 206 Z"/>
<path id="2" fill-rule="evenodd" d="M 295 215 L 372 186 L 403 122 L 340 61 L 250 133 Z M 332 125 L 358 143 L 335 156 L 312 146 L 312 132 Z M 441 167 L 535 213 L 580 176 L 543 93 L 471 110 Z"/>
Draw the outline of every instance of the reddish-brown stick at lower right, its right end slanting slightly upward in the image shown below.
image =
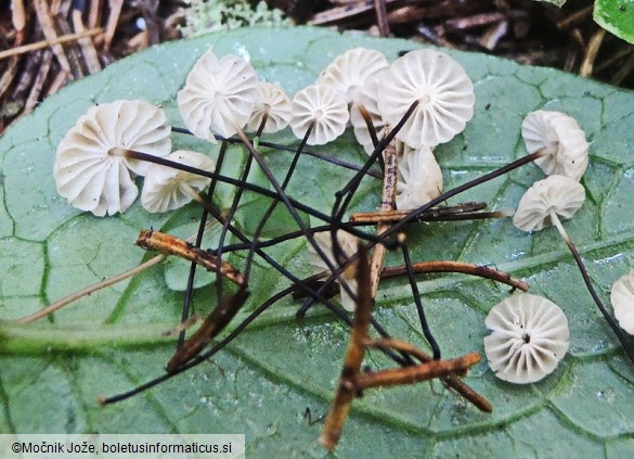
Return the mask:
<path id="1" fill-rule="evenodd" d="M 469 353 L 453 359 L 430 360 L 412 367 L 391 368 L 371 373 L 358 373 L 352 380 L 352 386 L 354 391 L 361 392 L 371 387 L 415 384 L 420 381 L 429 381 L 434 378 L 465 373 L 479 361 L 480 355 L 478 353 Z"/>

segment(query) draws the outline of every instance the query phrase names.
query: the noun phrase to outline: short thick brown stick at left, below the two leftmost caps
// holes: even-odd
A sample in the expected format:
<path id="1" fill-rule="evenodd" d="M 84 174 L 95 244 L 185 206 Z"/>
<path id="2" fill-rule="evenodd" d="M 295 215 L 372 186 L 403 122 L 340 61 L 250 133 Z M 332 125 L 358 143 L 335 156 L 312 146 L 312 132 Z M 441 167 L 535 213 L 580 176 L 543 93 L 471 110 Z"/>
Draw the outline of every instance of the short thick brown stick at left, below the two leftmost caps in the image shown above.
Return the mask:
<path id="1" fill-rule="evenodd" d="M 217 270 L 217 260 L 214 254 L 200 250 L 192 243 L 171 234 L 153 230 L 141 230 L 135 244 L 147 251 L 157 251 L 163 254 L 176 255 L 180 258 L 194 262 L 208 271 L 216 272 Z M 227 279 L 238 285 L 244 284 L 243 276 L 227 262 L 221 262 L 220 275 L 227 277 Z"/>

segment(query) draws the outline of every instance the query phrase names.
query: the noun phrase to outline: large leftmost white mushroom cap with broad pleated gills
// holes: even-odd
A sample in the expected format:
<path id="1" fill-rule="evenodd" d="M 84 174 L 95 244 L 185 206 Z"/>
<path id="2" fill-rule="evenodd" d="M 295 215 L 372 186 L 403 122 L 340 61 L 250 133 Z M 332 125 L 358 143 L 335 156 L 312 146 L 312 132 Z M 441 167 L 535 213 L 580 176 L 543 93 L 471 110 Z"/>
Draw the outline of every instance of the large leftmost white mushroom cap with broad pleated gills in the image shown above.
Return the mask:
<path id="1" fill-rule="evenodd" d="M 165 156 L 171 150 L 170 133 L 165 112 L 142 100 L 90 107 L 57 145 L 53 166 L 57 192 L 74 207 L 99 217 L 126 212 L 139 194 L 130 170 L 144 175 L 148 163 L 117 153 L 134 150 Z"/>

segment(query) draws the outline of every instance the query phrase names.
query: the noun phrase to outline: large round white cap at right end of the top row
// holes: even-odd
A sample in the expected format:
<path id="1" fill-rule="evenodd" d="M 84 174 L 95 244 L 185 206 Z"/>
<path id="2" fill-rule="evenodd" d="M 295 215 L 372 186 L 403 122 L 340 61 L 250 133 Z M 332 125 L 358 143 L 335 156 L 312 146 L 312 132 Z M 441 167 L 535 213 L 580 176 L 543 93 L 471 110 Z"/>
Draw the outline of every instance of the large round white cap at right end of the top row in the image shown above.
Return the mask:
<path id="1" fill-rule="evenodd" d="M 410 51 L 397 59 L 380 78 L 378 107 L 396 126 L 412 103 L 418 106 L 397 135 L 412 148 L 436 146 L 451 140 L 474 116 L 474 85 L 448 54 Z"/>

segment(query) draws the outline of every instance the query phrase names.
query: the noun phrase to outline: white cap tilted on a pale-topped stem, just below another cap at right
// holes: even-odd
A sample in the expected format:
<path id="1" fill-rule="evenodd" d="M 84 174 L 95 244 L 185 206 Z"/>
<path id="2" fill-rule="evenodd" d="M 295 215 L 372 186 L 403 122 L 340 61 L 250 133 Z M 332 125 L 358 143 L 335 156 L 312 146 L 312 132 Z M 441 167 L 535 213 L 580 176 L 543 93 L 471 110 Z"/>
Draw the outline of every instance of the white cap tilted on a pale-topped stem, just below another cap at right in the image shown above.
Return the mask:
<path id="1" fill-rule="evenodd" d="M 585 201 L 585 189 L 565 176 L 549 176 L 529 188 L 513 216 L 513 225 L 522 231 L 539 231 L 554 225 L 551 213 L 572 217 Z"/>

